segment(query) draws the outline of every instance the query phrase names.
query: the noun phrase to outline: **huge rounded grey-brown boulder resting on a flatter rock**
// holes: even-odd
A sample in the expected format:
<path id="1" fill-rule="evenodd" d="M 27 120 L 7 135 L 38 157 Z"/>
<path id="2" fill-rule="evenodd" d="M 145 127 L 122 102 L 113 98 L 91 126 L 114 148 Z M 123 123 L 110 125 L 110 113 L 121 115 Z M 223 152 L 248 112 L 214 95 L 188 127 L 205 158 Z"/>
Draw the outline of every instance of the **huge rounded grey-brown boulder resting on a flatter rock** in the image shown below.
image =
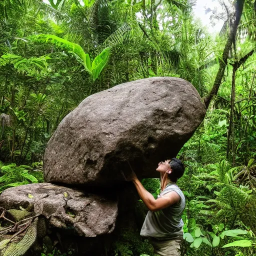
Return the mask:
<path id="1" fill-rule="evenodd" d="M 176 77 L 116 85 L 85 98 L 64 117 L 44 154 L 47 182 L 112 185 L 132 166 L 158 177 L 159 161 L 176 156 L 203 120 L 196 89 Z"/>

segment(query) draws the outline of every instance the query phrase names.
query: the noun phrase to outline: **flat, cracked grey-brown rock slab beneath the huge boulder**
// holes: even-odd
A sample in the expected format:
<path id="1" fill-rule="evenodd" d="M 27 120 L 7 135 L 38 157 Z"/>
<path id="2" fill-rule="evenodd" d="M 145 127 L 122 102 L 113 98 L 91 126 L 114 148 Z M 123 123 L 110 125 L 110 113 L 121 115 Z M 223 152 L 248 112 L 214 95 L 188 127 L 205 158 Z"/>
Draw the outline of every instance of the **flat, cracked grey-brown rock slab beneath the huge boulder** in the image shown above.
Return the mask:
<path id="1" fill-rule="evenodd" d="M 28 193 L 33 197 L 29 198 Z M 21 206 L 46 217 L 51 227 L 71 227 L 87 237 L 111 233 L 117 217 L 116 198 L 51 183 L 8 188 L 0 195 L 0 205 L 5 209 L 20 209 Z"/>

